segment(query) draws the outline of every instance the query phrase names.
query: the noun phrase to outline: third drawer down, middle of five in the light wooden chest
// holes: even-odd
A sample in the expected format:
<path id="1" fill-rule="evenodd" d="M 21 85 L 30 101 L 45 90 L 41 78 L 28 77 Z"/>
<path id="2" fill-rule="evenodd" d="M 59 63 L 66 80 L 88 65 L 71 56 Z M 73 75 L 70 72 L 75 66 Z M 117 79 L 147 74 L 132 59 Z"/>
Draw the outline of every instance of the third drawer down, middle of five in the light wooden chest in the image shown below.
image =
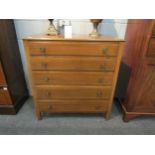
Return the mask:
<path id="1" fill-rule="evenodd" d="M 113 72 L 33 72 L 36 85 L 103 85 L 111 86 Z"/>

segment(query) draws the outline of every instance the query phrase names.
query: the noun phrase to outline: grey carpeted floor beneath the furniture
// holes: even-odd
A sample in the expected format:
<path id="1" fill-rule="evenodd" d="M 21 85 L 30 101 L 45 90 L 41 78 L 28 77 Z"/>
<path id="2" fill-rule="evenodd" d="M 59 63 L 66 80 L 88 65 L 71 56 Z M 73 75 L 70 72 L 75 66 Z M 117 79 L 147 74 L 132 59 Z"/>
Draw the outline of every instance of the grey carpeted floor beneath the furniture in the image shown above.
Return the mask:
<path id="1" fill-rule="evenodd" d="M 17 115 L 0 115 L 1 135 L 124 135 L 155 134 L 155 117 L 139 117 L 128 123 L 122 121 L 118 103 L 113 106 L 111 119 L 102 114 L 44 114 L 35 118 L 30 98 Z"/>

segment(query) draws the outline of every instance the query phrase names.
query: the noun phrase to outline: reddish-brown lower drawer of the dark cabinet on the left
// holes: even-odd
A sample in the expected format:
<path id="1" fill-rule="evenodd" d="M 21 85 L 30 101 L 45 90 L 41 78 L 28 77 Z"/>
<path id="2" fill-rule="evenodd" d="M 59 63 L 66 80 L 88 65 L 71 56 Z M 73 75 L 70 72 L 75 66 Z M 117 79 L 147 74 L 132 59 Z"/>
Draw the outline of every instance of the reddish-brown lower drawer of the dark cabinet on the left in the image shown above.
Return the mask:
<path id="1" fill-rule="evenodd" d="M 12 104 L 8 90 L 1 89 L 0 86 L 0 105 Z"/>

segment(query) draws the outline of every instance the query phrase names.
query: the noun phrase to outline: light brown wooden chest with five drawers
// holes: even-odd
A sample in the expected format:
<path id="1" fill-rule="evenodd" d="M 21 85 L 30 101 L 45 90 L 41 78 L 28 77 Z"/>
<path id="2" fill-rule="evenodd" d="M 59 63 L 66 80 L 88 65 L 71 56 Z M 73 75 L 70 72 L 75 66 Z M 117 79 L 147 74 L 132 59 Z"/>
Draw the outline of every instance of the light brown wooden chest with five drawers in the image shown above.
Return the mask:
<path id="1" fill-rule="evenodd" d="M 109 118 L 123 40 L 74 36 L 24 38 L 36 116 L 104 112 Z"/>

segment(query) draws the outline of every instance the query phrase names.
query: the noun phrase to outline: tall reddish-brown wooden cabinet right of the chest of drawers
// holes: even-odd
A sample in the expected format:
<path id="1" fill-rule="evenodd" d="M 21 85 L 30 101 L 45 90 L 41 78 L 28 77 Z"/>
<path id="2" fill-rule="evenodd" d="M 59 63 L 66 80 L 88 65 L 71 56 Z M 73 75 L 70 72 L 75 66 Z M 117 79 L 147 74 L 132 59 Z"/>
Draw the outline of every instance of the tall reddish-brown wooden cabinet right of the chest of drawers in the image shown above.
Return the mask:
<path id="1" fill-rule="evenodd" d="M 119 96 L 123 119 L 129 121 L 155 115 L 155 20 L 129 20 L 125 40 L 117 86 L 123 88 L 125 72 L 130 72 L 126 92 Z"/>

